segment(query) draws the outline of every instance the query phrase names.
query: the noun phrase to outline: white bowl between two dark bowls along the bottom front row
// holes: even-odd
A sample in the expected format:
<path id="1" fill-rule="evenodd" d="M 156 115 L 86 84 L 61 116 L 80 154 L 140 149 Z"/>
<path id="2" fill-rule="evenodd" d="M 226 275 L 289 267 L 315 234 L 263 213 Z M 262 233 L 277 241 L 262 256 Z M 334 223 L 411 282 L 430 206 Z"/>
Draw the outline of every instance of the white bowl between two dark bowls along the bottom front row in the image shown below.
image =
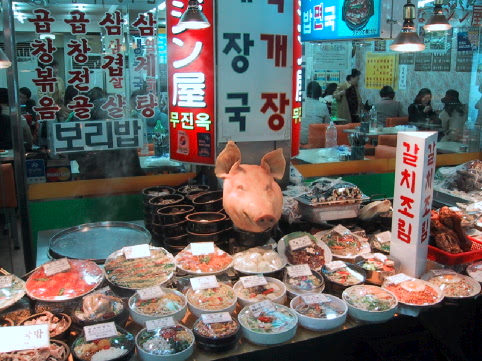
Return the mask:
<path id="1" fill-rule="evenodd" d="M 144 328 L 136 336 L 136 348 L 142 361 L 184 361 L 194 351 L 194 334 L 182 325 Z"/>

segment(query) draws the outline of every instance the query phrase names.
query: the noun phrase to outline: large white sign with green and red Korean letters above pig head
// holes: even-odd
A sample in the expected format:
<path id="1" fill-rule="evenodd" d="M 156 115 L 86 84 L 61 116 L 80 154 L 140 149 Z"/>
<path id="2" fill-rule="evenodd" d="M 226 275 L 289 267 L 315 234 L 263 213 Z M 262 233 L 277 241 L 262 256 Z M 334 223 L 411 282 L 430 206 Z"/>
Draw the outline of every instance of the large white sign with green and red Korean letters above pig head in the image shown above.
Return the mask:
<path id="1" fill-rule="evenodd" d="M 293 0 L 219 1 L 218 141 L 287 140 Z"/>

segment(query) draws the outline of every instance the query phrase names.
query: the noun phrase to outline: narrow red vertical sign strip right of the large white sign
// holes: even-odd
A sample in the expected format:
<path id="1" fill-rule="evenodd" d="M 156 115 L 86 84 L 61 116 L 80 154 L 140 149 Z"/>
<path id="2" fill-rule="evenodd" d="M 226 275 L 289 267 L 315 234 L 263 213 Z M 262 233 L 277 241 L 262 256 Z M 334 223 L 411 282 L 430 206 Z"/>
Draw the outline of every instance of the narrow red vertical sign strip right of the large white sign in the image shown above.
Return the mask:
<path id="1" fill-rule="evenodd" d="M 292 121 L 291 121 L 291 156 L 300 153 L 301 132 L 301 87 L 303 86 L 303 61 L 301 47 L 301 0 L 293 0 L 293 81 L 291 84 Z"/>

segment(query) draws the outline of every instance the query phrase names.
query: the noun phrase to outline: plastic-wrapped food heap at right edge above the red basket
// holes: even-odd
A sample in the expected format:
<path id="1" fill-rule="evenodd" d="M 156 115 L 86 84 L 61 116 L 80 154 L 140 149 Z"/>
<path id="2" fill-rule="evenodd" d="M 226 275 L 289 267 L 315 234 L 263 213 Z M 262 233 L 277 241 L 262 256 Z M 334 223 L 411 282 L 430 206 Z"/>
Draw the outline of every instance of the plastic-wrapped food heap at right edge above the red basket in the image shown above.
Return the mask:
<path id="1" fill-rule="evenodd" d="M 436 189 L 466 193 L 471 200 L 482 200 L 482 161 L 476 159 L 456 167 L 440 168 L 434 185 Z"/>

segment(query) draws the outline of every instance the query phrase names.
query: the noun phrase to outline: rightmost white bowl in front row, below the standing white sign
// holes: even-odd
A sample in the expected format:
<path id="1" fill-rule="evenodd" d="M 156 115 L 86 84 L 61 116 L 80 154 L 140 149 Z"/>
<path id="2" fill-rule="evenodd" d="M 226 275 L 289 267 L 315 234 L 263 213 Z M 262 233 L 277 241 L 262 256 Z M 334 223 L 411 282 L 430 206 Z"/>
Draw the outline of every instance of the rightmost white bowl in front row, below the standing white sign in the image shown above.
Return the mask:
<path id="1" fill-rule="evenodd" d="M 392 303 L 391 307 L 385 311 L 368 311 L 360 307 L 355 306 L 352 301 L 353 296 L 359 295 L 364 296 L 366 294 L 372 295 L 382 295 L 385 299 Z M 398 309 L 398 301 L 393 293 L 388 290 L 382 289 L 378 286 L 352 286 L 343 291 L 342 294 L 343 301 L 348 305 L 348 314 L 355 320 L 365 321 L 365 322 L 385 322 L 391 319 Z"/>

